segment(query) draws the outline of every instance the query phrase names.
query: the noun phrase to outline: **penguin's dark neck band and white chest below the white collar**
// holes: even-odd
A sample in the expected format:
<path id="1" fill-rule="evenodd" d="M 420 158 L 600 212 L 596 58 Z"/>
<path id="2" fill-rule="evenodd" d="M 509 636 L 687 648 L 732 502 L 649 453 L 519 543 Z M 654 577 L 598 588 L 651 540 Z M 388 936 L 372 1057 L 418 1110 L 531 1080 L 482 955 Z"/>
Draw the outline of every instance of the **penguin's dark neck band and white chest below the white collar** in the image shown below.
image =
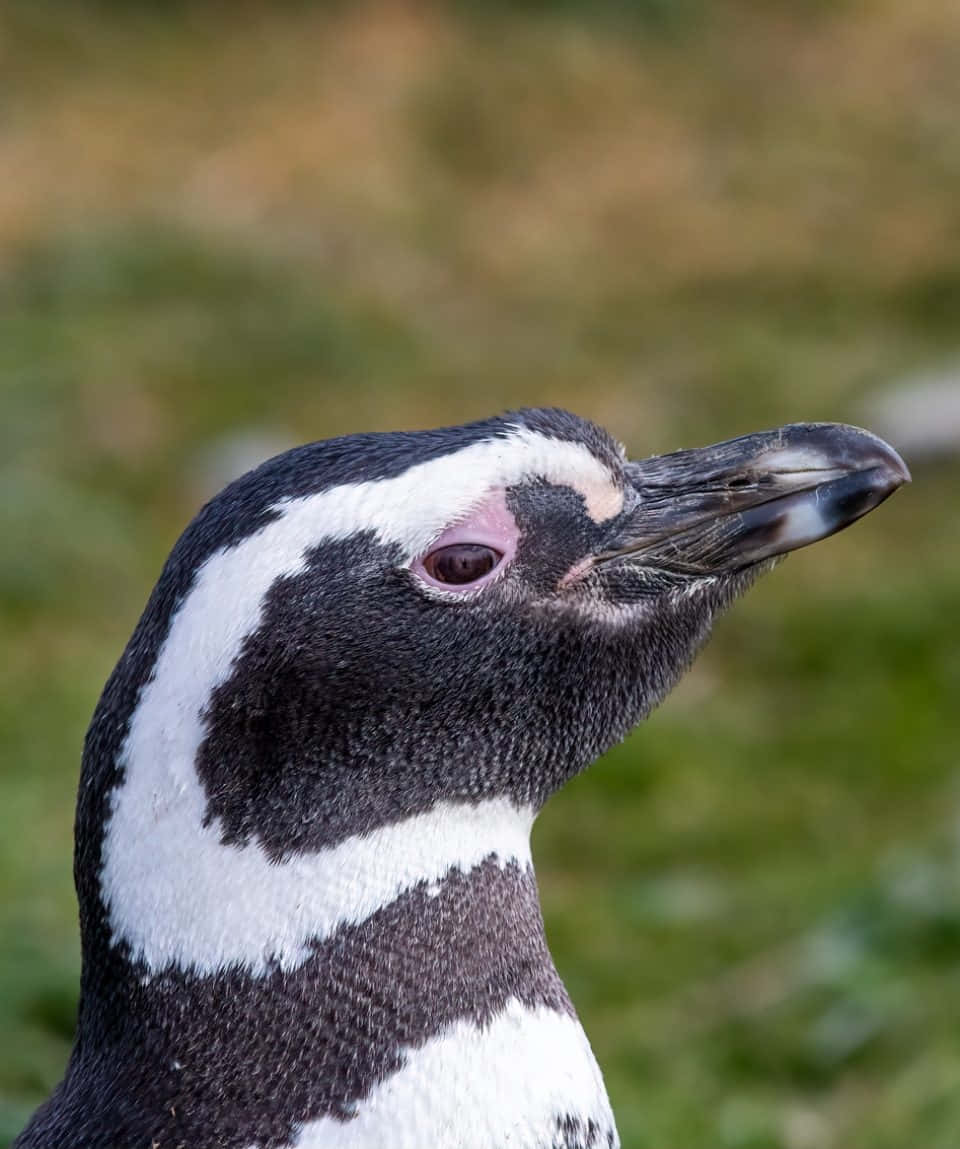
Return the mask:
<path id="1" fill-rule="evenodd" d="M 463 820 L 456 828 L 465 832 Z M 403 863 L 411 878 L 424 849 L 411 846 Z M 384 872 L 381 859 L 342 870 L 340 881 L 370 899 Z M 425 1120 L 423 1138 L 404 1143 L 440 1144 L 449 1120 L 490 1120 L 505 1106 L 497 1120 L 508 1132 L 534 1121 L 536 1136 L 518 1142 L 532 1149 L 594 1144 L 549 1136 L 581 1117 L 584 1129 L 612 1120 L 526 861 L 490 849 L 477 864 L 418 877 L 286 954 L 256 970 L 194 962 L 153 971 L 129 944 L 101 954 L 87 970 L 64 1087 L 67 1108 L 103 1139 L 90 1143 L 149 1134 L 202 1144 L 229 1125 L 242 1131 L 235 1149 L 301 1144 L 303 1128 L 315 1131 L 307 1146 L 333 1143 L 343 1128 L 354 1138 L 344 1144 L 379 1144 L 390 1123 Z M 118 1093 L 131 1098 L 123 1127 L 109 1108 Z M 377 1120 L 363 1140 L 364 1123 Z"/>

